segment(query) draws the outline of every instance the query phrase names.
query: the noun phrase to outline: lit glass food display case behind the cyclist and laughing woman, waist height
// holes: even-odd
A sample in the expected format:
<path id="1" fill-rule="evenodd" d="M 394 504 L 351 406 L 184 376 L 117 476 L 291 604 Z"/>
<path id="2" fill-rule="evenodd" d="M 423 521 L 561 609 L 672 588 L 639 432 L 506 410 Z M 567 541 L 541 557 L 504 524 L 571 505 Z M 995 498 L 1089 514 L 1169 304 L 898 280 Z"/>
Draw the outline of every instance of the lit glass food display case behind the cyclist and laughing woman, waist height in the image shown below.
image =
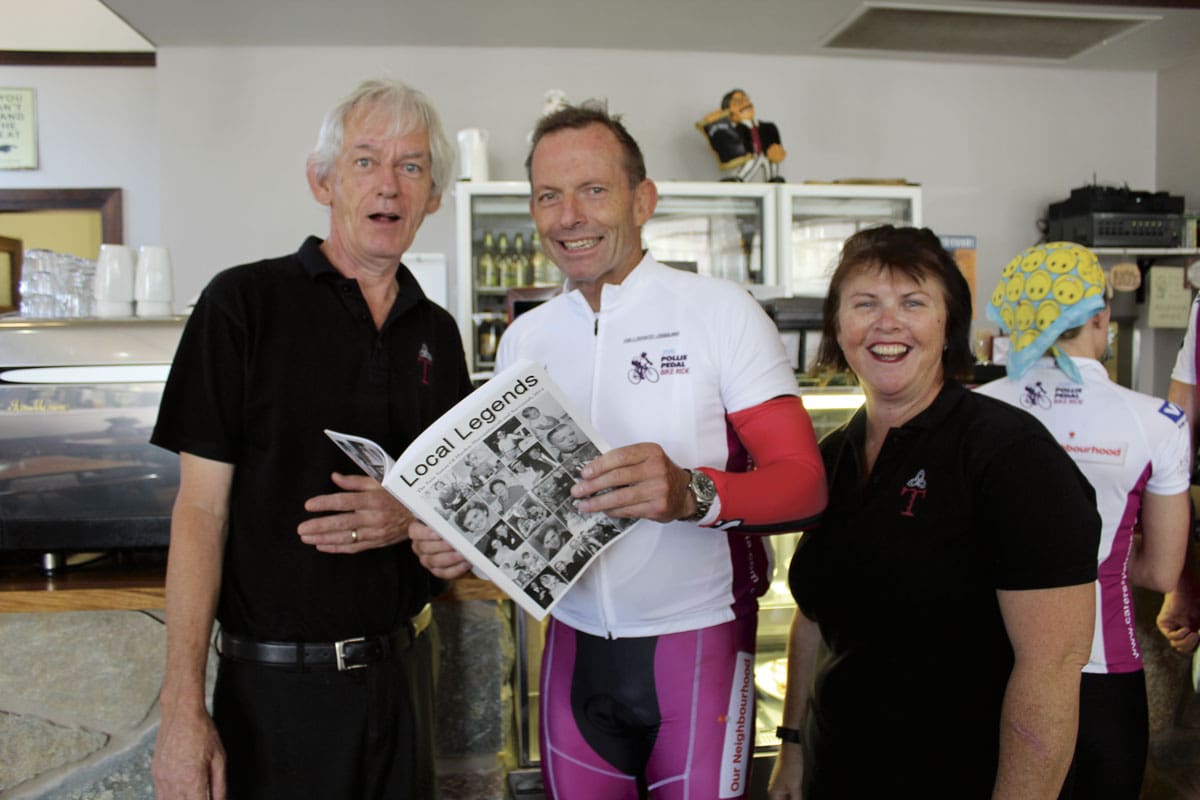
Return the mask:
<path id="1" fill-rule="evenodd" d="M 820 439 L 838 428 L 863 404 L 857 386 L 800 387 L 804 407 L 812 419 Z M 787 634 L 796 603 L 787 587 L 787 565 L 803 534 L 776 534 L 770 537 L 775 572 L 770 588 L 758 600 L 758 637 L 755 657 L 756 721 L 755 746 L 758 754 L 772 754 L 779 746 L 775 727 L 782 716 L 784 691 L 787 687 Z M 514 606 L 514 608 L 516 608 Z M 520 609 L 514 612 L 518 658 L 516 664 L 516 729 L 523 765 L 535 764 L 538 752 L 538 703 L 541 667 L 541 643 L 545 622 Z M 757 768 L 756 768 L 757 769 Z"/>

